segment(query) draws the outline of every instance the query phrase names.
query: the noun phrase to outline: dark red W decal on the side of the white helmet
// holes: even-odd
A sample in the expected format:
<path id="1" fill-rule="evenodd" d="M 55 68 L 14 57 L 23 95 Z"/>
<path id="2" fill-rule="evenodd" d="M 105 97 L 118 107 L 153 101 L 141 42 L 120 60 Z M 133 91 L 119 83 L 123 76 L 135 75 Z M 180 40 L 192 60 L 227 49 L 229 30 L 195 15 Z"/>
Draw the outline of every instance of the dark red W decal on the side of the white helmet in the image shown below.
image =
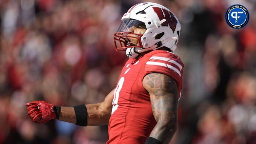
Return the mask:
<path id="1" fill-rule="evenodd" d="M 170 28 L 173 30 L 175 30 L 176 25 L 177 25 L 177 19 L 174 17 L 173 13 L 171 11 L 167 11 L 164 8 L 159 8 L 159 7 L 153 7 L 154 12 L 156 12 L 157 16 L 159 17 L 160 21 L 162 19 L 166 19 L 165 22 L 163 22 L 161 25 L 162 26 L 170 26 Z M 164 15 L 163 15 L 164 12 Z"/>

